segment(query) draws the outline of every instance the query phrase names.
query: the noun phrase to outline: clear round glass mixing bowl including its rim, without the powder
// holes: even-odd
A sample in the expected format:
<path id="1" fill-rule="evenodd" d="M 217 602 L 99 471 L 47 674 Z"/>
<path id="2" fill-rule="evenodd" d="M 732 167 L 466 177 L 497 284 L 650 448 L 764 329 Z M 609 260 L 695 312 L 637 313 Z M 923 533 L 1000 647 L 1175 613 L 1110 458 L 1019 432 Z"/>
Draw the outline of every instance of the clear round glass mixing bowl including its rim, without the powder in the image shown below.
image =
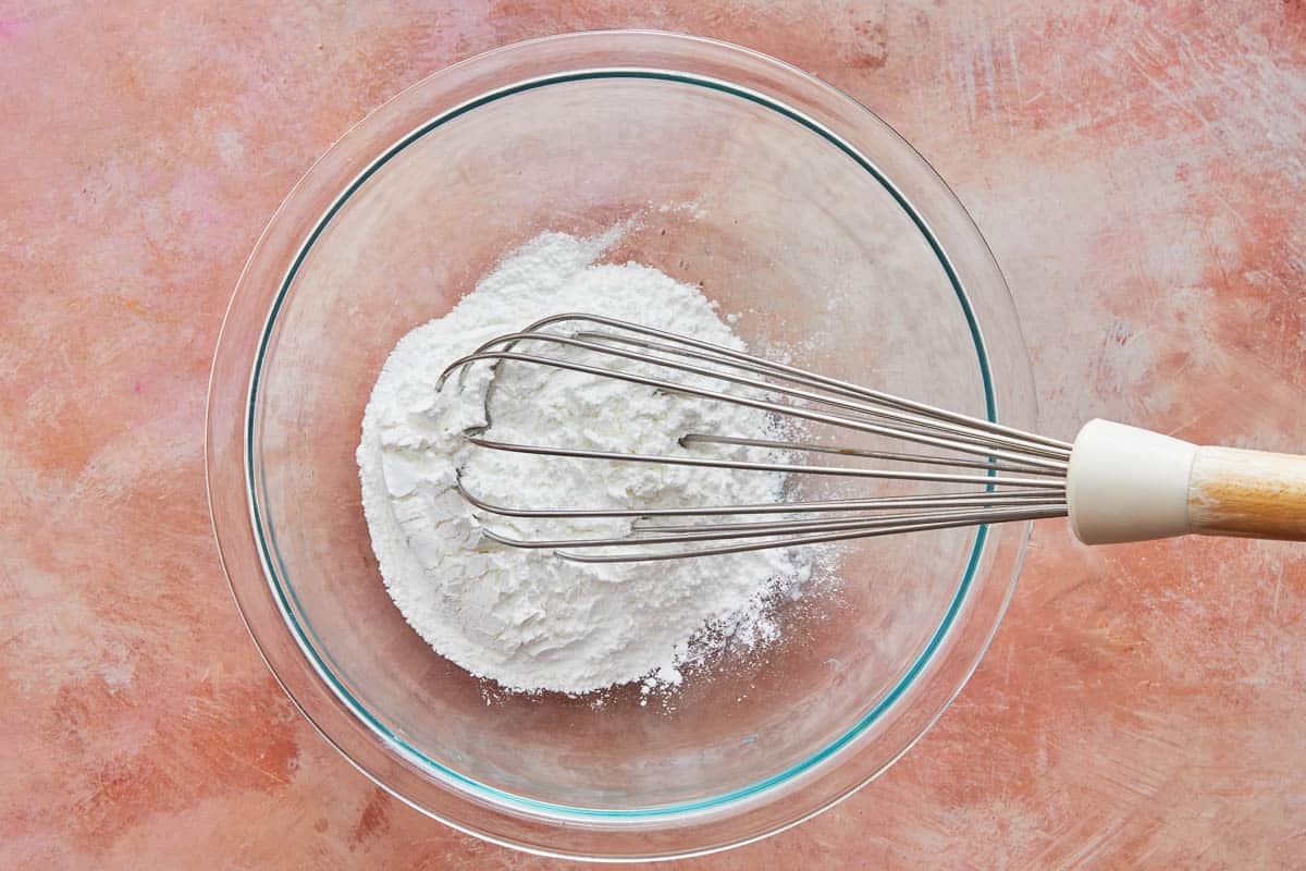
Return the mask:
<path id="1" fill-rule="evenodd" d="M 354 765 L 423 812 L 555 855 L 687 855 L 798 823 L 939 717 L 1011 595 L 1029 525 L 841 548 L 784 641 L 670 704 L 494 695 L 388 598 L 354 448 L 379 367 L 515 245 L 627 222 L 755 350 L 1017 427 L 1032 376 L 1002 274 L 875 115 L 752 51 L 648 31 L 511 46 L 410 87 L 330 149 L 259 240 L 206 423 L 222 562 L 260 650 Z"/>

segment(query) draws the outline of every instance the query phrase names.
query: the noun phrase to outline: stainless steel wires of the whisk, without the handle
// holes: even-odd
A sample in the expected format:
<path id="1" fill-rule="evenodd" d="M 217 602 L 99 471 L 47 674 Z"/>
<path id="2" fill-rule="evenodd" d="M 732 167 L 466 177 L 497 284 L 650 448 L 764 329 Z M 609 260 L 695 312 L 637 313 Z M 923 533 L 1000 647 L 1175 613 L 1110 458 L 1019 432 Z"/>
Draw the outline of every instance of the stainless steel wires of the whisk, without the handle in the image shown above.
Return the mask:
<path id="1" fill-rule="evenodd" d="M 546 328 L 558 328 L 563 324 L 584 324 L 585 328 L 569 333 L 543 332 Z M 596 355 L 596 362 L 606 358 L 614 363 L 628 360 L 661 367 L 669 372 L 691 376 L 699 384 L 718 381 L 754 393 L 730 393 L 628 370 L 549 356 L 538 351 L 516 350 L 524 343 L 576 349 Z M 469 492 L 460 475 L 457 486 L 462 498 L 486 515 L 529 518 L 635 518 L 629 535 L 614 538 L 517 539 L 488 528 L 482 529 L 486 538 L 502 545 L 549 548 L 554 550 L 558 556 L 573 562 L 622 563 L 735 554 L 990 522 L 1064 517 L 1068 513 L 1066 474 L 1072 445 L 1067 441 L 613 317 L 586 313 L 554 315 L 535 321 L 518 333 L 499 336 L 471 354 L 451 363 L 440 375 L 438 388 L 443 389 L 454 372 L 460 372 L 461 384 L 468 368 L 473 364 L 488 363 L 498 373 L 499 368 L 508 362 L 549 366 L 682 396 L 729 402 L 808 423 L 829 424 L 871 436 L 896 439 L 944 453 L 870 451 L 810 441 L 718 434 L 688 432 L 679 437 L 679 444 L 686 448 L 729 444 L 768 448 L 786 453 L 837 454 L 909 466 L 934 466 L 934 469 L 885 469 L 725 460 L 688 454 L 637 454 L 568 448 L 565 445 L 516 444 L 483 435 L 491 426 L 488 411 L 490 394 L 494 390 L 492 379 L 485 400 L 487 423 L 465 434 L 468 441 L 479 448 L 582 460 L 658 462 L 742 471 L 943 483 L 972 488 L 982 487 L 982 490 L 750 505 L 532 508 L 490 504 Z M 782 402 L 778 397 L 785 397 L 789 402 Z M 849 417 L 850 414 L 855 417 Z M 782 517 L 739 520 L 768 515 Z M 803 515 L 812 516 L 804 517 Z M 665 518 L 718 517 L 730 520 L 688 524 L 683 521 L 663 522 Z M 665 548 L 665 546 L 671 545 L 688 547 Z M 645 550 L 650 547 L 662 550 Z"/>

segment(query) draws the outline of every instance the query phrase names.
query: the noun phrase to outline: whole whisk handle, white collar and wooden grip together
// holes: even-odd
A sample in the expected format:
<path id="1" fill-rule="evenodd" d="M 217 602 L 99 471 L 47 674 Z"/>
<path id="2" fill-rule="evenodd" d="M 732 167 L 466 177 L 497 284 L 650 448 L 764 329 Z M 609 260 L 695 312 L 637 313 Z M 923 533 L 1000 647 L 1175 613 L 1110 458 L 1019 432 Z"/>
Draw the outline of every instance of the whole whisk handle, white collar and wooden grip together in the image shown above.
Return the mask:
<path id="1" fill-rule="evenodd" d="M 1085 545 L 1187 533 L 1306 541 L 1306 456 L 1091 420 L 1071 451 L 1066 500 Z"/>

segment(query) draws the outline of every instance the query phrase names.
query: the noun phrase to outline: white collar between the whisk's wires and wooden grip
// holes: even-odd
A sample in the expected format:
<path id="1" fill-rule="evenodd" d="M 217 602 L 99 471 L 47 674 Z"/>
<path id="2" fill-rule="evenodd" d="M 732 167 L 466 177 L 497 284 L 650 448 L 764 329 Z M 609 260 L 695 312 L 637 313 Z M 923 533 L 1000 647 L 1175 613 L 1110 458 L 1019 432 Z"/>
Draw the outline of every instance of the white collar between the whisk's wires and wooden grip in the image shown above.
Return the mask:
<path id="1" fill-rule="evenodd" d="M 1149 430 L 1089 420 L 1075 437 L 1066 501 L 1085 545 L 1191 531 L 1188 479 L 1198 445 Z"/>

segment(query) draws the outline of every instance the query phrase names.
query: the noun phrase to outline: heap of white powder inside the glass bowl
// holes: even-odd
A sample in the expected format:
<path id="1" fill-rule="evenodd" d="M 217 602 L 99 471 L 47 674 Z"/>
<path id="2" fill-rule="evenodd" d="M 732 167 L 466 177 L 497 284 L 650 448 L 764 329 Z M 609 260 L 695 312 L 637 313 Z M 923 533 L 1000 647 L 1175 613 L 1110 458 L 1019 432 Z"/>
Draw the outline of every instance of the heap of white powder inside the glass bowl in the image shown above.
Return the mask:
<path id="1" fill-rule="evenodd" d="M 400 341 L 363 418 L 363 508 L 390 597 L 436 652 L 508 689 L 580 693 L 639 679 L 677 684 L 680 667 L 713 648 L 771 639 L 768 602 L 797 594 L 810 572 L 798 551 L 571 563 L 547 550 L 500 546 L 479 530 L 485 524 L 515 538 L 596 538 L 620 535 L 629 521 L 478 516 L 453 490 L 461 469 L 469 491 L 511 507 L 781 498 L 781 475 L 526 456 L 462 439 L 465 428 L 485 423 L 491 373 L 473 367 L 461 387 L 451 380 L 436 392 L 441 370 L 549 315 L 609 315 L 743 349 L 697 289 L 637 264 L 596 264 L 616 235 L 545 234 L 513 252 L 452 312 Z M 677 439 L 686 432 L 761 435 L 771 426 L 755 409 L 521 363 L 495 376 L 488 413 L 487 436 L 503 441 L 652 454 L 684 453 Z M 713 453 L 759 456 L 744 448 Z"/>

